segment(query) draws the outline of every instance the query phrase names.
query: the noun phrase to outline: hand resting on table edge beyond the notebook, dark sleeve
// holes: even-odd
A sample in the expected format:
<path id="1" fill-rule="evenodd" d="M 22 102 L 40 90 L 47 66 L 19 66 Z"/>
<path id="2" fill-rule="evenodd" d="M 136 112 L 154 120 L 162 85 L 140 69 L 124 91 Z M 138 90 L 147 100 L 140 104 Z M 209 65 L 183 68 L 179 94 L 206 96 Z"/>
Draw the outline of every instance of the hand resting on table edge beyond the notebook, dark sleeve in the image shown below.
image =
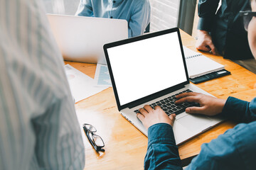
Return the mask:
<path id="1" fill-rule="evenodd" d="M 213 55 L 217 55 L 218 52 L 213 45 L 213 40 L 206 30 L 198 30 L 198 40 L 196 41 L 196 48 L 206 52 L 213 52 Z"/>

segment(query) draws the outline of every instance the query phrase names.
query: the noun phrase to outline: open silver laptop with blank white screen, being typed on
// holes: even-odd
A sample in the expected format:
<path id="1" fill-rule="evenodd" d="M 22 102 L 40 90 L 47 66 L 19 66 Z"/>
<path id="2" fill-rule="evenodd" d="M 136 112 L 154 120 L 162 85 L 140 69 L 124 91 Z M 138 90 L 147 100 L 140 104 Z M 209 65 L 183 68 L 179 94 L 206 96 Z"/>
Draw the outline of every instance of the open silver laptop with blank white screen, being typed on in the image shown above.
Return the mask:
<path id="1" fill-rule="evenodd" d="M 104 50 L 117 107 L 144 135 L 147 131 L 136 113 L 145 104 L 159 105 L 167 114 L 176 113 L 177 145 L 220 123 L 217 117 L 185 113 L 186 107 L 197 103 L 174 104 L 176 94 L 208 94 L 188 80 L 178 28 L 112 42 L 104 45 Z"/>

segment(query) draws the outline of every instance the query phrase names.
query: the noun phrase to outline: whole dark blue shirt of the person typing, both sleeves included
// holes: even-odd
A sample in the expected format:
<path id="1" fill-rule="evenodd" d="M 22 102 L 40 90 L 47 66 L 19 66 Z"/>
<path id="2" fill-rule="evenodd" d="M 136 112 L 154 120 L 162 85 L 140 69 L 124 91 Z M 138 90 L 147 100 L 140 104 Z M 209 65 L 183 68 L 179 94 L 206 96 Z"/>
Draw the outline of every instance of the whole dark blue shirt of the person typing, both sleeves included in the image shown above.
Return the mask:
<path id="1" fill-rule="evenodd" d="M 203 144 L 186 169 L 255 169 L 256 98 L 247 102 L 229 97 L 221 114 L 244 123 Z M 148 137 L 144 169 L 182 169 L 171 125 L 152 125 Z"/>

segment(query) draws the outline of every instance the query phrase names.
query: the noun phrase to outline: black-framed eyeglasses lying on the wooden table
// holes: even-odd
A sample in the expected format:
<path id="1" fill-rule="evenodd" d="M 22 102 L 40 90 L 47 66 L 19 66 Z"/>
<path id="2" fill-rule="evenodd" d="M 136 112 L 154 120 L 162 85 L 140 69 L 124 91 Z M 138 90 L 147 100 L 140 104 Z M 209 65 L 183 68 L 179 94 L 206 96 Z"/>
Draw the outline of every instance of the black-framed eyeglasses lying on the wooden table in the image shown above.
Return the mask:
<path id="1" fill-rule="evenodd" d="M 96 152 L 105 152 L 105 149 L 102 149 L 102 147 L 105 146 L 102 138 L 99 135 L 95 135 L 95 132 L 97 132 L 96 128 L 90 124 L 84 124 L 82 125 L 82 128 L 84 129 L 85 135 L 87 136 L 92 147 L 95 148 Z"/>

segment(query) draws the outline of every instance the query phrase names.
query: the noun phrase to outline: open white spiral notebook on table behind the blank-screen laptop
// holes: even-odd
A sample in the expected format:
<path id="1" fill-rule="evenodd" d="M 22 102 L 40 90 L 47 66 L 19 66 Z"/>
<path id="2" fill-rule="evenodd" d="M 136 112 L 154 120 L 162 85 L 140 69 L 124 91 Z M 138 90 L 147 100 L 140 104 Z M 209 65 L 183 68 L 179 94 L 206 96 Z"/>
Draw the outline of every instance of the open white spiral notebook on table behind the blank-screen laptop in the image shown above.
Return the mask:
<path id="1" fill-rule="evenodd" d="M 210 60 L 199 52 L 190 50 L 185 46 L 183 46 L 183 51 L 186 59 L 186 66 L 188 68 L 188 76 L 191 79 L 224 69 L 223 64 Z"/>

